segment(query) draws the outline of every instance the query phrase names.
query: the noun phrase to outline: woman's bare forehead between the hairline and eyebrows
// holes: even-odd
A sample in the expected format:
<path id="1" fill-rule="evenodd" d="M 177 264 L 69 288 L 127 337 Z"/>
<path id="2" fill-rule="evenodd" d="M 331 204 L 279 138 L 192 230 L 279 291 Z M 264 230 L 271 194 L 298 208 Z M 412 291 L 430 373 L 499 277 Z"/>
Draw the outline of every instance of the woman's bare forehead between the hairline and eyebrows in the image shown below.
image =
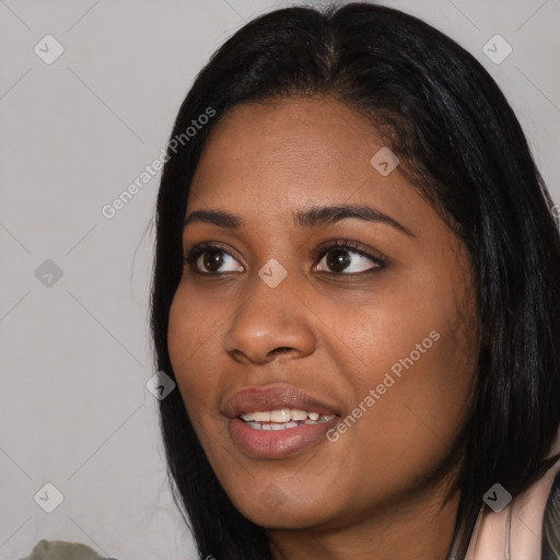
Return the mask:
<path id="1" fill-rule="evenodd" d="M 242 104 L 210 133 L 188 211 L 243 207 L 283 221 L 318 203 L 373 203 L 413 218 L 425 203 L 398 167 L 382 176 L 371 164 L 382 148 L 364 116 L 331 98 Z"/>

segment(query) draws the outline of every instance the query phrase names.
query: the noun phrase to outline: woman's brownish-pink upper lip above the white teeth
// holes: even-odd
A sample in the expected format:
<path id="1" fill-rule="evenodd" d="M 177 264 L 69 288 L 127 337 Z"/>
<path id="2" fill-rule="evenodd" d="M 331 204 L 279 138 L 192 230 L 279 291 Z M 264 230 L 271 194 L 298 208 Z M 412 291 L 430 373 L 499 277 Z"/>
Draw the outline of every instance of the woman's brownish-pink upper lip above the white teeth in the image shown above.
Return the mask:
<path id="1" fill-rule="evenodd" d="M 249 412 L 264 412 L 280 408 L 306 410 L 325 416 L 340 416 L 332 405 L 307 395 L 293 385 L 243 388 L 225 401 L 223 412 L 229 418 L 237 418 Z"/>

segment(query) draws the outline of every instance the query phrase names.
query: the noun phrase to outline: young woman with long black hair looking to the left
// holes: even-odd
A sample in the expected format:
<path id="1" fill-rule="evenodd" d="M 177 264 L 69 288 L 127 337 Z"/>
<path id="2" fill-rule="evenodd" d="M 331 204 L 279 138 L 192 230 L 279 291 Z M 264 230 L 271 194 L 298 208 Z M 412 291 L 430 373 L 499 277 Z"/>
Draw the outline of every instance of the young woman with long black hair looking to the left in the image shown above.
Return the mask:
<path id="1" fill-rule="evenodd" d="M 557 558 L 560 240 L 483 68 L 389 8 L 277 10 L 167 155 L 152 332 L 200 558 Z"/>

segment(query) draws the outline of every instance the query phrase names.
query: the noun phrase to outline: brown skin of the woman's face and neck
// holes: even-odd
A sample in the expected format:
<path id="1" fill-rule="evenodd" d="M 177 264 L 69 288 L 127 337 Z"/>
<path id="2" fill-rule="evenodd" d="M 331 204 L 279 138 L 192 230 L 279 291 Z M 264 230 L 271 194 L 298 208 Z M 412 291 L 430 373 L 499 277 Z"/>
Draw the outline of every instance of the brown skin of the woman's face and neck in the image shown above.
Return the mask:
<path id="1" fill-rule="evenodd" d="M 219 254 L 221 279 L 185 265 L 170 357 L 212 468 L 235 506 L 270 529 L 275 559 L 444 560 L 452 542 L 459 494 L 441 506 L 455 472 L 435 474 L 472 393 L 474 278 L 465 248 L 399 166 L 388 176 L 372 166 L 383 145 L 330 98 L 238 105 L 212 130 L 191 184 L 187 214 L 221 210 L 245 223 L 185 229 L 185 252 L 215 242 L 229 255 Z M 355 218 L 311 229 L 292 221 L 298 210 L 348 203 L 411 235 Z M 329 260 L 332 249 L 312 258 L 337 240 L 381 254 L 384 268 L 353 249 L 346 268 Z M 288 271 L 273 289 L 258 276 L 271 258 Z M 222 411 L 236 390 L 291 383 L 345 418 L 431 331 L 439 340 L 336 443 L 255 459 L 231 439 Z"/>

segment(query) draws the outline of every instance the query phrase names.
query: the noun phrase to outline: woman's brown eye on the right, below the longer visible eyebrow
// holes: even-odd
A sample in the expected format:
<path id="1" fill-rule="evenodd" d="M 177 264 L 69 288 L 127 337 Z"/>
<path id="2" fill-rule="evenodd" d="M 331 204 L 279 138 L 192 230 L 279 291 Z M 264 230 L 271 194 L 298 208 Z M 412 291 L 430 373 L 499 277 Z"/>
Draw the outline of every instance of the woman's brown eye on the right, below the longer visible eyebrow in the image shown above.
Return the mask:
<path id="1" fill-rule="evenodd" d="M 385 266 L 385 261 L 381 256 L 359 248 L 358 244 L 351 241 L 337 241 L 326 247 L 319 247 L 315 252 L 314 258 L 318 258 L 323 255 L 325 256 L 317 265 L 323 268 L 318 268 L 318 270 L 335 275 L 342 273 L 345 276 L 351 276 L 362 272 L 373 272 Z M 349 255 L 353 255 L 353 257 Z M 325 262 L 325 265 L 323 265 L 323 262 Z"/>

